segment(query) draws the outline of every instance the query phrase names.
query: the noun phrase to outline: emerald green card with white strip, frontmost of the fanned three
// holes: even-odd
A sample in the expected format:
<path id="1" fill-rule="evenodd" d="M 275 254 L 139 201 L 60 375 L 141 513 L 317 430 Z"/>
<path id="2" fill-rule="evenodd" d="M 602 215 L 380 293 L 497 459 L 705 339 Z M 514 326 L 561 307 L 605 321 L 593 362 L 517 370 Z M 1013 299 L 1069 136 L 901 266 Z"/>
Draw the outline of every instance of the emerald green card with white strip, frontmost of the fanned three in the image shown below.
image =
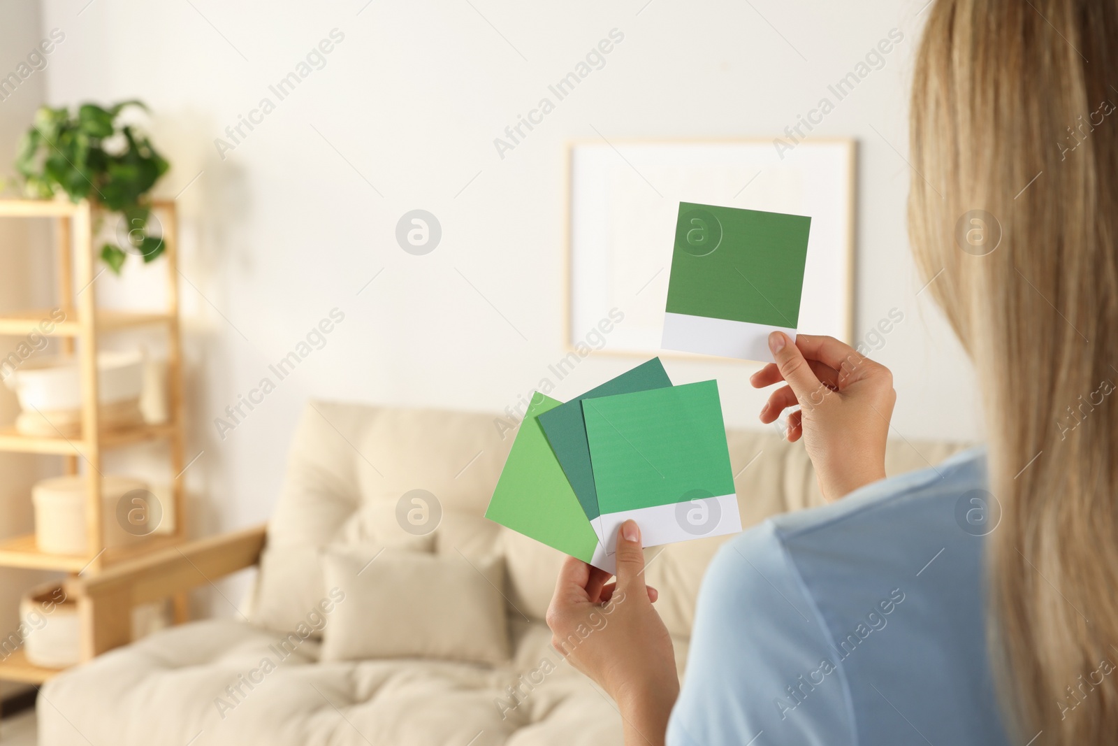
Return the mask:
<path id="1" fill-rule="evenodd" d="M 741 530 L 713 380 L 582 400 L 599 537 L 633 519 L 646 547 Z"/>

